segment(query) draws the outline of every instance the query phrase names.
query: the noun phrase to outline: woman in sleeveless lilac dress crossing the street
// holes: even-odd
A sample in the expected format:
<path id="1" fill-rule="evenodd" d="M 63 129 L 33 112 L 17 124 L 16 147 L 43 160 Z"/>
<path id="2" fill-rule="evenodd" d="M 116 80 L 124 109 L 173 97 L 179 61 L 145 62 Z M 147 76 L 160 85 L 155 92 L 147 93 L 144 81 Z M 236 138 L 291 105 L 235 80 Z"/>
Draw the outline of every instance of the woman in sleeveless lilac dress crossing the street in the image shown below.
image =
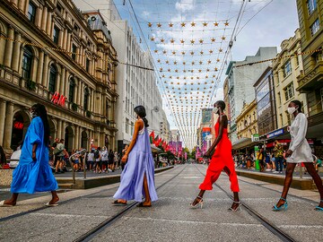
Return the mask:
<path id="1" fill-rule="evenodd" d="M 154 163 L 147 131 L 148 121 L 143 106 L 135 107 L 135 114 L 135 132 L 121 160 L 127 161 L 127 164 L 121 173 L 118 191 L 113 196 L 117 200 L 113 203 L 127 204 L 127 200 L 135 200 L 141 202 L 139 207 L 150 207 L 158 197 L 154 186 Z"/>

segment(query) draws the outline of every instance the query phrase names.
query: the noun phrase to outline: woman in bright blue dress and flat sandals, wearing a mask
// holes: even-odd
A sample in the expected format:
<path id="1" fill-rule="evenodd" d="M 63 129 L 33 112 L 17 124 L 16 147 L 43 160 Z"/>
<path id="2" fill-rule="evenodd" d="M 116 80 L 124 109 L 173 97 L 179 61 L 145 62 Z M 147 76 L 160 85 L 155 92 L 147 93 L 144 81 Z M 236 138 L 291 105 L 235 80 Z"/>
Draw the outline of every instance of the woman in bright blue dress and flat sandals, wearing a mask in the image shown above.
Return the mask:
<path id="1" fill-rule="evenodd" d="M 31 125 L 22 145 L 19 165 L 13 170 L 11 199 L 0 202 L 0 206 L 14 206 L 18 194 L 48 192 L 52 194 L 47 206 L 57 206 L 57 180 L 48 163 L 49 125 L 47 110 L 42 104 L 31 107 Z"/>

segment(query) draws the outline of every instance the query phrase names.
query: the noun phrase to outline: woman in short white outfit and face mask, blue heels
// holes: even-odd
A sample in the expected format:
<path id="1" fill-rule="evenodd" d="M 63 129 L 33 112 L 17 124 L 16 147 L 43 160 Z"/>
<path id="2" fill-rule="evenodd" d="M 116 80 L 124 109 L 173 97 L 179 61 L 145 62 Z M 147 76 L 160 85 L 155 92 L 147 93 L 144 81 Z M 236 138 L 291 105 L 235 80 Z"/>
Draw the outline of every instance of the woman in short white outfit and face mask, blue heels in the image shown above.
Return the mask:
<path id="1" fill-rule="evenodd" d="M 315 185 L 319 189 L 320 202 L 315 210 L 323 211 L 323 185 L 319 174 L 316 172 L 313 165 L 313 156 L 310 150 L 310 145 L 306 140 L 308 128 L 307 117 L 301 112 L 301 102 L 292 100 L 288 105 L 287 112 L 294 117 L 290 126 L 291 143 L 289 150 L 286 151 L 285 158 L 287 161 L 286 177 L 284 180 L 284 189 L 278 203 L 273 207 L 273 211 L 281 211 L 287 209 L 287 193 L 292 183 L 292 173 L 296 164 L 303 162 L 310 176 L 313 178 Z M 300 164 L 301 165 L 301 164 Z"/>

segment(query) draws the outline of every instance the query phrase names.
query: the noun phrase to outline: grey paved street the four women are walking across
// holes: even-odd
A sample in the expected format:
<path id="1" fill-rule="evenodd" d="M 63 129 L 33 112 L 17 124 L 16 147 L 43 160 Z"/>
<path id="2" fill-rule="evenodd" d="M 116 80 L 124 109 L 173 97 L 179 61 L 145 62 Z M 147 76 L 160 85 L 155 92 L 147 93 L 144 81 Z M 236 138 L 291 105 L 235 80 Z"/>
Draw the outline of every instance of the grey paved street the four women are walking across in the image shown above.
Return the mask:
<path id="1" fill-rule="evenodd" d="M 182 165 L 157 174 L 159 201 L 152 208 L 134 206 L 120 215 L 125 207 L 110 203 L 118 184 L 60 194 L 61 204 L 54 208 L 42 205 L 49 196 L 24 200 L 14 208 L 1 208 L 0 240 L 281 241 L 279 233 L 258 220 L 256 212 L 294 241 L 321 241 L 323 212 L 313 210 L 319 201 L 319 194 L 313 191 L 291 189 L 288 210 L 272 212 L 282 186 L 240 177 L 240 197 L 251 212 L 243 207 L 241 212 L 231 213 L 226 211 L 231 205 L 225 193 L 230 193 L 230 186 L 223 174 L 218 186 L 205 194 L 203 209 L 190 209 L 188 204 L 198 192 L 205 169 L 204 165 Z M 79 239 L 111 218 L 115 220 L 98 227 L 99 232 Z"/>

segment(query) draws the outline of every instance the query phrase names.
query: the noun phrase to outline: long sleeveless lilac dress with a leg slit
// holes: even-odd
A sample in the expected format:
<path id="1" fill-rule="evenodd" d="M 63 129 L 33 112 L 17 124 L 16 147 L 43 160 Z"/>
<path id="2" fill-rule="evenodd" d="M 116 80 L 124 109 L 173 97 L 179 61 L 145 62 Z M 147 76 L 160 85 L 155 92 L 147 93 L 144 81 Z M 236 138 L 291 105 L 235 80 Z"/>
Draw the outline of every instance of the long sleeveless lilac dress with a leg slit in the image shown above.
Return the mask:
<path id="1" fill-rule="evenodd" d="M 128 154 L 127 164 L 121 173 L 120 186 L 113 197 L 142 202 L 144 196 L 144 174 L 147 177 L 150 198 L 152 202 L 156 201 L 158 196 L 154 186 L 153 153 L 149 134 L 145 127 L 139 131 L 135 145 Z"/>

